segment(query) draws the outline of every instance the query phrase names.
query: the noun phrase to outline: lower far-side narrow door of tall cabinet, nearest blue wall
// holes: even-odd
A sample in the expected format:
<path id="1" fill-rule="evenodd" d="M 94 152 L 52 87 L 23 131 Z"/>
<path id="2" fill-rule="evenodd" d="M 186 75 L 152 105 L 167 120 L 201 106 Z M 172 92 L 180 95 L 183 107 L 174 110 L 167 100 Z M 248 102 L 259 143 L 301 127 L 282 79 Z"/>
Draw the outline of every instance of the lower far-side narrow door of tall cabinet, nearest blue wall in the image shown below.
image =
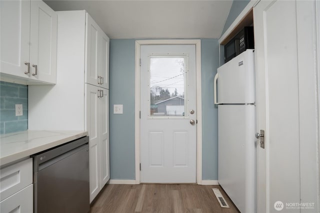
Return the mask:
<path id="1" fill-rule="evenodd" d="M 110 179 L 109 173 L 109 90 L 101 88 L 103 95 L 99 97 L 100 150 L 101 150 L 101 188 Z"/>

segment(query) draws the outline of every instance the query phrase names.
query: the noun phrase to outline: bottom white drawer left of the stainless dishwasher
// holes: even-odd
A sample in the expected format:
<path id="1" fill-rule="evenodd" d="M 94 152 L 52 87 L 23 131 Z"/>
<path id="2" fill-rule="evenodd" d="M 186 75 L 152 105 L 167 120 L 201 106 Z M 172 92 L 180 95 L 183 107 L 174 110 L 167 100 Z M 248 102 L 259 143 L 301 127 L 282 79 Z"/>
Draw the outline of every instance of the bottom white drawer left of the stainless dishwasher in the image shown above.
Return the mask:
<path id="1" fill-rule="evenodd" d="M 0 212 L 33 212 L 33 184 L 2 200 Z"/>

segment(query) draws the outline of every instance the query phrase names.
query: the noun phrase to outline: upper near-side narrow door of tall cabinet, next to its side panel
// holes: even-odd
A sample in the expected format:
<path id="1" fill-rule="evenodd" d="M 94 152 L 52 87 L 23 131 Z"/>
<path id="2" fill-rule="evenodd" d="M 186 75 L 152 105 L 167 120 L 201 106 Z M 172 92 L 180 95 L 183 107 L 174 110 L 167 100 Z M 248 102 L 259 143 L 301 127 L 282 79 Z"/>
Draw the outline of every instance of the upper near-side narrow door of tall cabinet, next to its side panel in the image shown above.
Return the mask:
<path id="1" fill-rule="evenodd" d="M 86 39 L 85 39 L 85 82 L 99 86 L 99 26 L 94 22 L 92 17 L 86 13 Z"/>

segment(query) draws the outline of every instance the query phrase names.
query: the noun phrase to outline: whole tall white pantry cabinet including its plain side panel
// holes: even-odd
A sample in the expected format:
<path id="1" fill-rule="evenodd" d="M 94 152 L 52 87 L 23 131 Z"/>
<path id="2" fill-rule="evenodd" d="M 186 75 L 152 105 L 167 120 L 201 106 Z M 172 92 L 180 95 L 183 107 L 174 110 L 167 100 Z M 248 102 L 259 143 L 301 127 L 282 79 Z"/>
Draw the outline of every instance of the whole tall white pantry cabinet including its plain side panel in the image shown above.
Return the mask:
<path id="1" fill-rule="evenodd" d="M 59 11 L 56 85 L 28 87 L 28 129 L 87 130 L 90 202 L 109 179 L 109 38 L 84 10 Z"/>

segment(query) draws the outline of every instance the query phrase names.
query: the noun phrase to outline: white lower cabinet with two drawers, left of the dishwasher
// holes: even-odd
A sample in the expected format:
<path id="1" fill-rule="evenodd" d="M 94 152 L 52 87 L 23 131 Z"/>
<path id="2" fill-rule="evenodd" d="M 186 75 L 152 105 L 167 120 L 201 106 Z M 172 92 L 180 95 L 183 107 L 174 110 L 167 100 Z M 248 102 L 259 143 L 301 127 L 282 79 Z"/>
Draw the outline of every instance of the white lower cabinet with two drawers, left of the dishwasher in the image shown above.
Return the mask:
<path id="1" fill-rule="evenodd" d="M 32 212 L 32 158 L 0 169 L 0 212 Z"/>

